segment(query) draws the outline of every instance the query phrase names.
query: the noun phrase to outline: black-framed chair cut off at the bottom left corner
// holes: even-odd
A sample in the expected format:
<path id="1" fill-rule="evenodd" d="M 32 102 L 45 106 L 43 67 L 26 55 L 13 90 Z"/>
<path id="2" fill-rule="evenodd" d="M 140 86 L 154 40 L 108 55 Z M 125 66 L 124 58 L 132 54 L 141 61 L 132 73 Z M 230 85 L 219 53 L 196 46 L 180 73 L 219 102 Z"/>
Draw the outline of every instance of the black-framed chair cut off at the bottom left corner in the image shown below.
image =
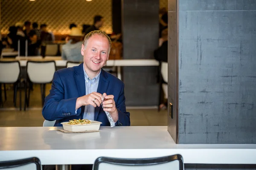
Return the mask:
<path id="1" fill-rule="evenodd" d="M 8 170 L 8 168 L 18 168 L 18 167 L 21 167 L 21 166 L 26 166 L 28 164 L 35 164 L 35 166 L 36 166 L 35 170 L 41 170 L 40 160 L 36 157 L 27 158 L 27 159 L 12 160 L 12 161 L 1 161 L 0 162 L 0 169 Z M 27 170 L 33 170 L 33 169 L 31 169 L 31 167 L 30 167 Z"/>

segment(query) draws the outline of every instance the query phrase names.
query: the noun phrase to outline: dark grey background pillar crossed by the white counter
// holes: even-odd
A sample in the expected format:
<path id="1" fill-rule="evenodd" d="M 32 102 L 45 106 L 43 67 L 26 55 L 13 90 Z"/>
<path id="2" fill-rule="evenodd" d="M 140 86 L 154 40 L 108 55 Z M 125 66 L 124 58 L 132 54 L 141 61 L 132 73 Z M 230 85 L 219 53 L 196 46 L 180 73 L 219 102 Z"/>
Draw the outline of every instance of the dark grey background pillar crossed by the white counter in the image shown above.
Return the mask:
<path id="1" fill-rule="evenodd" d="M 124 59 L 154 59 L 158 46 L 158 0 L 123 0 Z M 157 67 L 123 67 L 126 105 L 157 105 Z"/>

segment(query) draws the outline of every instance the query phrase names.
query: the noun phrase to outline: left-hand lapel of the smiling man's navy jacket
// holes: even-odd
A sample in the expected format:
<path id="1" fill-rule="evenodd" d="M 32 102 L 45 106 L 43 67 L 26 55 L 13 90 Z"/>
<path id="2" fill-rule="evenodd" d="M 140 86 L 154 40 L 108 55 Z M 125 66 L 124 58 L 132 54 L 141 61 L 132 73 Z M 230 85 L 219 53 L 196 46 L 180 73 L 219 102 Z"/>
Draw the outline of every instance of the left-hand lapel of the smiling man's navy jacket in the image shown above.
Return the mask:
<path id="1" fill-rule="evenodd" d="M 84 64 L 81 63 L 78 67 L 75 67 L 75 80 L 76 80 L 76 87 L 79 93 L 79 97 L 84 96 L 86 94 L 85 90 L 85 80 L 84 80 Z M 84 116 L 84 106 L 81 107 L 81 119 Z"/>

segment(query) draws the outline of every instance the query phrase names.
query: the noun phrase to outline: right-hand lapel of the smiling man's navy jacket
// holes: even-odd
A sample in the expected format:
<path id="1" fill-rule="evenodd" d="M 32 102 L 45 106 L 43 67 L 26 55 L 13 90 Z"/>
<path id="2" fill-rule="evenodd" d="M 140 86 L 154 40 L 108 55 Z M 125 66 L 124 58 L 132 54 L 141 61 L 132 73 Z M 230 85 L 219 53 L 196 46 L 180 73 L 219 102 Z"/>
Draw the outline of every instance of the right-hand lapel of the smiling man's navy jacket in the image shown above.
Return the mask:
<path id="1" fill-rule="evenodd" d="M 98 85 L 98 89 L 97 92 L 100 94 L 106 93 L 107 89 L 108 89 L 108 76 L 106 75 L 106 72 L 102 69 L 100 77 L 99 77 L 99 85 Z M 94 113 L 94 120 L 97 120 L 98 115 L 99 115 L 99 110 L 100 107 L 96 107 L 95 108 L 95 113 Z"/>

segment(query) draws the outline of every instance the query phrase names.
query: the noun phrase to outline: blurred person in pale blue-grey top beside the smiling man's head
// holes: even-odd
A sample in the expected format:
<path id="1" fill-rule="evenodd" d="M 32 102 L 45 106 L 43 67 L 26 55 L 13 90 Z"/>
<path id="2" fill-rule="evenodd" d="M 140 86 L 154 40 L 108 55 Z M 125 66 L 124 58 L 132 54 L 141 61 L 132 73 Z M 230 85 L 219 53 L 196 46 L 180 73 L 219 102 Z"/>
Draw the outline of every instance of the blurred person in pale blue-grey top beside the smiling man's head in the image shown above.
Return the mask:
<path id="1" fill-rule="evenodd" d="M 81 45 L 83 44 L 83 37 L 81 30 L 73 27 L 68 42 L 62 46 L 61 58 L 68 61 L 82 62 Z"/>

